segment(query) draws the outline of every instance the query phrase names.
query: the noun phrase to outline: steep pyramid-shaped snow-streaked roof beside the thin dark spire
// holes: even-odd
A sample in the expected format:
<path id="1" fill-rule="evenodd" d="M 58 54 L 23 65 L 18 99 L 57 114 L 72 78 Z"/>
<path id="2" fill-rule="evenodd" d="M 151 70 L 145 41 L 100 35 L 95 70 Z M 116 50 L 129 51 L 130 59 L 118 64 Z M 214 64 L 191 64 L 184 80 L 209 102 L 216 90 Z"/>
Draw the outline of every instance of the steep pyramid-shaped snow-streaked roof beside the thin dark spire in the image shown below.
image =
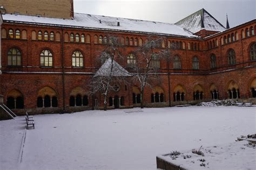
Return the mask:
<path id="1" fill-rule="evenodd" d="M 193 33 L 203 29 L 218 32 L 226 30 L 226 28 L 205 9 L 194 12 L 175 24 Z"/>

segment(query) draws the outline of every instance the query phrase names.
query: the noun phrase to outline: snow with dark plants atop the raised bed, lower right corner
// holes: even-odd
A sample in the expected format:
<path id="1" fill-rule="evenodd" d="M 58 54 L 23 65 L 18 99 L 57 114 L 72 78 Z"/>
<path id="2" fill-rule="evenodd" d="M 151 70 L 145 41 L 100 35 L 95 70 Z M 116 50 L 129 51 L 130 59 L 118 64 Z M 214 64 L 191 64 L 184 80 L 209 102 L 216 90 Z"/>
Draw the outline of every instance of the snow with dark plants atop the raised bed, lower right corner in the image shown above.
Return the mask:
<path id="1" fill-rule="evenodd" d="M 255 169 L 256 150 L 254 144 L 248 141 L 231 142 L 219 146 L 196 148 L 200 154 L 172 152 L 174 155 L 160 155 L 159 157 L 184 169 Z"/>

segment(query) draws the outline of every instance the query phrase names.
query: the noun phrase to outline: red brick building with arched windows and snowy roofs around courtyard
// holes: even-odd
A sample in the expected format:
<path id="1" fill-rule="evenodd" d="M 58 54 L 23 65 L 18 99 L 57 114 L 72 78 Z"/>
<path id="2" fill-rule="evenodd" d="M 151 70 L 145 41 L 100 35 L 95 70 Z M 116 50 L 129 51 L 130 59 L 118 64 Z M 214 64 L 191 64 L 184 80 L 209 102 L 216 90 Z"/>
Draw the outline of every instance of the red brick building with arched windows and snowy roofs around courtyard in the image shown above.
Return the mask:
<path id="1" fill-rule="evenodd" d="M 73 11 L 65 19 L 21 15 L 1 5 L 0 94 L 16 113 L 102 107 L 103 96 L 89 96 L 87 85 L 99 69 L 96 58 L 108 35 L 124 45 L 121 53 L 127 59 L 115 60 L 125 69 L 130 54 L 149 36 L 164 39 L 159 49 L 176 44 L 169 68 L 166 60 L 156 61 L 161 81 L 146 88 L 147 107 L 228 98 L 255 102 L 255 19 L 226 29 L 204 9 L 169 24 Z M 109 94 L 109 108 L 139 106 L 139 87 L 117 86 Z"/>

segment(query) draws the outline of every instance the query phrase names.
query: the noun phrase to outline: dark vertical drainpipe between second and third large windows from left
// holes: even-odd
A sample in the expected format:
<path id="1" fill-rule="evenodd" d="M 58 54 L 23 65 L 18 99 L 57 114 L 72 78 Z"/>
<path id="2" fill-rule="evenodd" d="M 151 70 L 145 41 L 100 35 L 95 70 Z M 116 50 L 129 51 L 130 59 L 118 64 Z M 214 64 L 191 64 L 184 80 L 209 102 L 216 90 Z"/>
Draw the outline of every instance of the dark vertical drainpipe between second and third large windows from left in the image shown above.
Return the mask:
<path id="1" fill-rule="evenodd" d="M 61 40 L 61 62 L 62 62 L 62 98 L 63 98 L 63 113 L 65 113 L 65 58 L 64 58 L 64 34 L 62 26 L 62 38 Z"/>

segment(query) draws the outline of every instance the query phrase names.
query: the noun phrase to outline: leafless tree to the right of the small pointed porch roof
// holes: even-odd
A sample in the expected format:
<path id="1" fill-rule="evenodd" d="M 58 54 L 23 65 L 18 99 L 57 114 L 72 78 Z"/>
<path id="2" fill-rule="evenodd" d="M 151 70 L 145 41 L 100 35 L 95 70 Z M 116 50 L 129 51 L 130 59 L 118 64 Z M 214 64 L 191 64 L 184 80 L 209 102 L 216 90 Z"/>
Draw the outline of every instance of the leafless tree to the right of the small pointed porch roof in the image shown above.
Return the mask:
<path id="1" fill-rule="evenodd" d="M 160 59 L 165 59 L 169 64 L 171 51 L 165 44 L 165 49 L 159 50 L 164 39 L 148 38 L 149 41 L 144 43 L 136 53 L 137 63 L 131 66 L 133 82 L 140 87 L 140 108 L 144 108 L 144 90 L 146 86 L 152 88 L 153 84 L 160 81 L 158 72 L 160 69 Z M 169 66 L 169 65 L 168 65 Z M 170 96 L 170 95 L 169 95 Z"/>

